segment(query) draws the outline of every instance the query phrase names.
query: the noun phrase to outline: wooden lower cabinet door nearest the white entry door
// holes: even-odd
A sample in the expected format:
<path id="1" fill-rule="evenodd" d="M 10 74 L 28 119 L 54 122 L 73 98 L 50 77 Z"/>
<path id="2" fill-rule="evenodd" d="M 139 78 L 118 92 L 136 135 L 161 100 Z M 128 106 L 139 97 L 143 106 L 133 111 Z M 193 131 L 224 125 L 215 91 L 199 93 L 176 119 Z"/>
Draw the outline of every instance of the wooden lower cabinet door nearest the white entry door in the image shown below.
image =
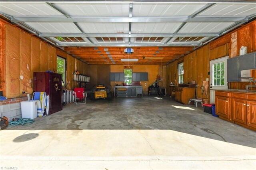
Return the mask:
<path id="1" fill-rule="evenodd" d="M 230 116 L 230 99 L 228 97 L 215 97 L 215 113 L 221 117 L 231 120 Z"/>

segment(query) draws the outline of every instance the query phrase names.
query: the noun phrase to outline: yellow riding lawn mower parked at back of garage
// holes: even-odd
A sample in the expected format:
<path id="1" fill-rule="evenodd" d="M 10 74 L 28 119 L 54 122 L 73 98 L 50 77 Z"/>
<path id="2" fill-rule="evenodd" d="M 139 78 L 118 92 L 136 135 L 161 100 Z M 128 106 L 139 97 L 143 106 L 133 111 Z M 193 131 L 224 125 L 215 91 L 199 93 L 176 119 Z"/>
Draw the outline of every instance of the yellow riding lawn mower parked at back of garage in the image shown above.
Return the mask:
<path id="1" fill-rule="evenodd" d="M 112 99 L 112 93 L 106 89 L 104 84 L 99 84 L 91 93 L 91 100 L 96 99 Z"/>

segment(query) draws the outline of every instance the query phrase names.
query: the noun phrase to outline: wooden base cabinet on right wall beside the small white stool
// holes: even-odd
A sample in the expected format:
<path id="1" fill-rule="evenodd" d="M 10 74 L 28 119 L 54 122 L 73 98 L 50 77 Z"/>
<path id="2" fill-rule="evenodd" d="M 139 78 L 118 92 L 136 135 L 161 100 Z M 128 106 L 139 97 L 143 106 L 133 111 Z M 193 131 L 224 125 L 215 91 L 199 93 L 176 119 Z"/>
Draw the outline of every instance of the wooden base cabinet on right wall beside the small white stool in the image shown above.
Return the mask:
<path id="1" fill-rule="evenodd" d="M 195 98 L 195 88 L 188 88 L 188 87 L 176 87 L 176 101 L 180 102 L 184 105 L 188 105 L 189 99 Z"/>

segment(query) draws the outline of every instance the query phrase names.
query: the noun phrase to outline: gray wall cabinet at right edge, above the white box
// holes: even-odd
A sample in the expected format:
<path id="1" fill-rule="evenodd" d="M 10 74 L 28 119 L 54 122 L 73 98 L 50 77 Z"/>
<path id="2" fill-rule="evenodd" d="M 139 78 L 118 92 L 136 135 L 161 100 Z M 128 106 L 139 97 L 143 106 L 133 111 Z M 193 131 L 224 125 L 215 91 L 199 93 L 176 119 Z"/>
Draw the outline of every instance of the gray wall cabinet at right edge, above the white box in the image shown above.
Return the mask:
<path id="1" fill-rule="evenodd" d="M 248 70 L 256 68 L 256 52 L 239 56 L 239 69 Z"/>

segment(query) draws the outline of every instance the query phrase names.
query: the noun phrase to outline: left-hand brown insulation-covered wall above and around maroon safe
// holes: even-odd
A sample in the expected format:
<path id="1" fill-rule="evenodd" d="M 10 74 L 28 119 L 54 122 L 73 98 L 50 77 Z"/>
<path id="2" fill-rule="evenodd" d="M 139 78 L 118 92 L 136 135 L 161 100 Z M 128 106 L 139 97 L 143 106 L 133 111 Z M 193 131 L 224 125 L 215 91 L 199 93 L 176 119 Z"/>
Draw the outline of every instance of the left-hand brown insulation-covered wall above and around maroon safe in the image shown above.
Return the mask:
<path id="1" fill-rule="evenodd" d="M 1 89 L 7 98 L 20 97 L 22 91 L 31 94 L 34 72 L 57 72 L 57 54 L 67 59 L 67 89 L 77 86 L 72 81 L 75 70 L 87 74 L 86 63 L 2 20 L 0 26 L 1 75 L 5 73 L 1 76 Z"/>

